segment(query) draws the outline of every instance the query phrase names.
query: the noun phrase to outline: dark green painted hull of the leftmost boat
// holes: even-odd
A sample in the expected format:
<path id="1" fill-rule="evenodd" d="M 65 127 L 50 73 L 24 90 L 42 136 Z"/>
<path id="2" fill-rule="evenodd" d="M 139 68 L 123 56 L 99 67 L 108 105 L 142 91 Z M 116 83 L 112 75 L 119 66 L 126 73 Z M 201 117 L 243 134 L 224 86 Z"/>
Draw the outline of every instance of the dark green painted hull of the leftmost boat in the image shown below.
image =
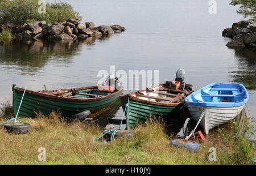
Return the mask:
<path id="1" fill-rule="evenodd" d="M 22 105 L 20 106 L 18 117 L 35 117 L 35 112 L 41 112 L 49 114 L 52 111 L 59 111 L 64 117 L 69 117 L 73 114 L 80 113 L 84 110 L 96 111 L 101 108 L 105 108 L 115 102 L 122 91 L 119 91 L 114 96 L 104 98 L 102 100 L 95 101 L 65 101 L 55 98 L 49 98 L 44 96 L 35 95 L 34 93 L 28 93 L 26 91 Z M 19 108 L 20 101 L 22 99 L 23 91 L 15 89 L 13 87 L 13 108 L 16 114 Z"/>

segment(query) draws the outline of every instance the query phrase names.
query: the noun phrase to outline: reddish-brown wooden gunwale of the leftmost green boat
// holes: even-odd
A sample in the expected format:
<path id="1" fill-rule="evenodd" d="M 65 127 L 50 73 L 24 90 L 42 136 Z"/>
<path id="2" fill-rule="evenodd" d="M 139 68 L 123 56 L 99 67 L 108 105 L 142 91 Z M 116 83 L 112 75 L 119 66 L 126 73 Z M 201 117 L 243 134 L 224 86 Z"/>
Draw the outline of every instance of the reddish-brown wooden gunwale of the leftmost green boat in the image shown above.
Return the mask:
<path id="1" fill-rule="evenodd" d="M 80 87 L 80 88 L 76 88 L 76 89 L 77 90 L 81 90 L 81 89 L 90 89 L 90 88 L 94 88 L 94 87 L 97 87 L 97 85 L 89 86 L 89 87 Z M 24 89 L 20 88 L 20 87 L 15 87 L 15 89 L 13 91 L 15 91 L 15 90 L 24 92 Z M 63 91 L 71 91 L 71 89 L 61 89 L 61 90 L 63 90 Z M 56 95 L 49 95 L 47 93 L 36 92 L 36 91 L 31 91 L 31 90 L 26 89 L 27 93 L 31 93 L 33 95 L 37 95 L 37 96 L 41 96 L 41 97 L 46 97 L 46 98 L 52 98 L 52 99 L 56 99 L 56 100 L 73 101 L 73 102 L 100 101 L 100 100 L 104 100 L 106 98 L 110 98 L 110 97 L 116 96 L 119 93 L 122 93 L 122 91 L 123 91 L 123 88 L 121 88 L 117 92 L 114 92 L 114 93 L 112 93 L 110 95 L 106 95 L 106 96 L 102 96 L 102 97 L 95 97 L 95 98 L 73 98 L 73 97 L 60 97 L 60 96 L 56 96 Z"/>

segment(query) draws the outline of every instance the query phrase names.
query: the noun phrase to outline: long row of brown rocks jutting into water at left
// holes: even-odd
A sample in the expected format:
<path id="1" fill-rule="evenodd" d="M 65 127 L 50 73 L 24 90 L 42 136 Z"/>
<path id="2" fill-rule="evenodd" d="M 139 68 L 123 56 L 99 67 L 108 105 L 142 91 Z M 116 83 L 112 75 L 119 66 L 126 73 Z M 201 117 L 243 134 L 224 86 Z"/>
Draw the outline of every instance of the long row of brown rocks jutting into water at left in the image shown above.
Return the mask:
<path id="1" fill-rule="evenodd" d="M 100 25 L 95 27 L 93 22 L 81 23 L 79 19 L 68 19 L 63 23 L 47 24 L 45 21 L 32 23 L 6 23 L 0 25 L 0 32 L 10 31 L 20 40 L 64 40 L 72 41 L 87 37 L 102 37 L 112 33 L 124 32 L 121 25 Z"/>

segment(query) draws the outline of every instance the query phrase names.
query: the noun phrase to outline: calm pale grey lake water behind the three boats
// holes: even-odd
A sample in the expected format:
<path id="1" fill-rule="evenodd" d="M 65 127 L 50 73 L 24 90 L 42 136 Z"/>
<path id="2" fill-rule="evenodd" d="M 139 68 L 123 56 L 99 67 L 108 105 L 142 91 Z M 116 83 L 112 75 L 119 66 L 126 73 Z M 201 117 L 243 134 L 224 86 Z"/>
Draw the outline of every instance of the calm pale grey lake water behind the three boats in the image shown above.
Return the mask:
<path id="1" fill-rule="evenodd" d="M 53 2 L 53 1 L 47 1 Z M 247 115 L 256 114 L 256 51 L 229 49 L 224 28 L 243 20 L 229 1 L 67 1 L 82 22 L 120 24 L 126 28 L 109 38 L 74 43 L 14 42 L 0 45 L 0 102 L 11 100 L 12 84 L 35 91 L 97 84 L 100 70 L 159 70 L 159 82 L 173 80 L 184 68 L 195 89 L 210 83 L 242 83 L 250 93 Z M 126 91 L 128 92 L 128 91 Z M 125 92 L 125 93 L 126 93 Z M 122 115 L 117 108 L 111 115 Z"/>

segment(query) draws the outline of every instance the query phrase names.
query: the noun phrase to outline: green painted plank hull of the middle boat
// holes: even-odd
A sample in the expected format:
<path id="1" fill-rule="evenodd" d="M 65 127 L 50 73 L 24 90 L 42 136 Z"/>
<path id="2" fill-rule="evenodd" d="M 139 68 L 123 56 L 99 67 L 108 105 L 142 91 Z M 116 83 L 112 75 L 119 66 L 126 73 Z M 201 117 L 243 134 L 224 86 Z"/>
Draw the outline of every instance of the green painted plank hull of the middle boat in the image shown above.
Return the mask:
<path id="1" fill-rule="evenodd" d="M 135 127 L 138 122 L 145 122 L 149 117 L 162 117 L 164 119 L 171 118 L 172 114 L 177 113 L 180 110 L 180 106 L 182 106 L 182 104 L 179 106 L 163 106 L 131 100 L 128 98 L 126 115 L 127 127 L 130 130 Z"/>

